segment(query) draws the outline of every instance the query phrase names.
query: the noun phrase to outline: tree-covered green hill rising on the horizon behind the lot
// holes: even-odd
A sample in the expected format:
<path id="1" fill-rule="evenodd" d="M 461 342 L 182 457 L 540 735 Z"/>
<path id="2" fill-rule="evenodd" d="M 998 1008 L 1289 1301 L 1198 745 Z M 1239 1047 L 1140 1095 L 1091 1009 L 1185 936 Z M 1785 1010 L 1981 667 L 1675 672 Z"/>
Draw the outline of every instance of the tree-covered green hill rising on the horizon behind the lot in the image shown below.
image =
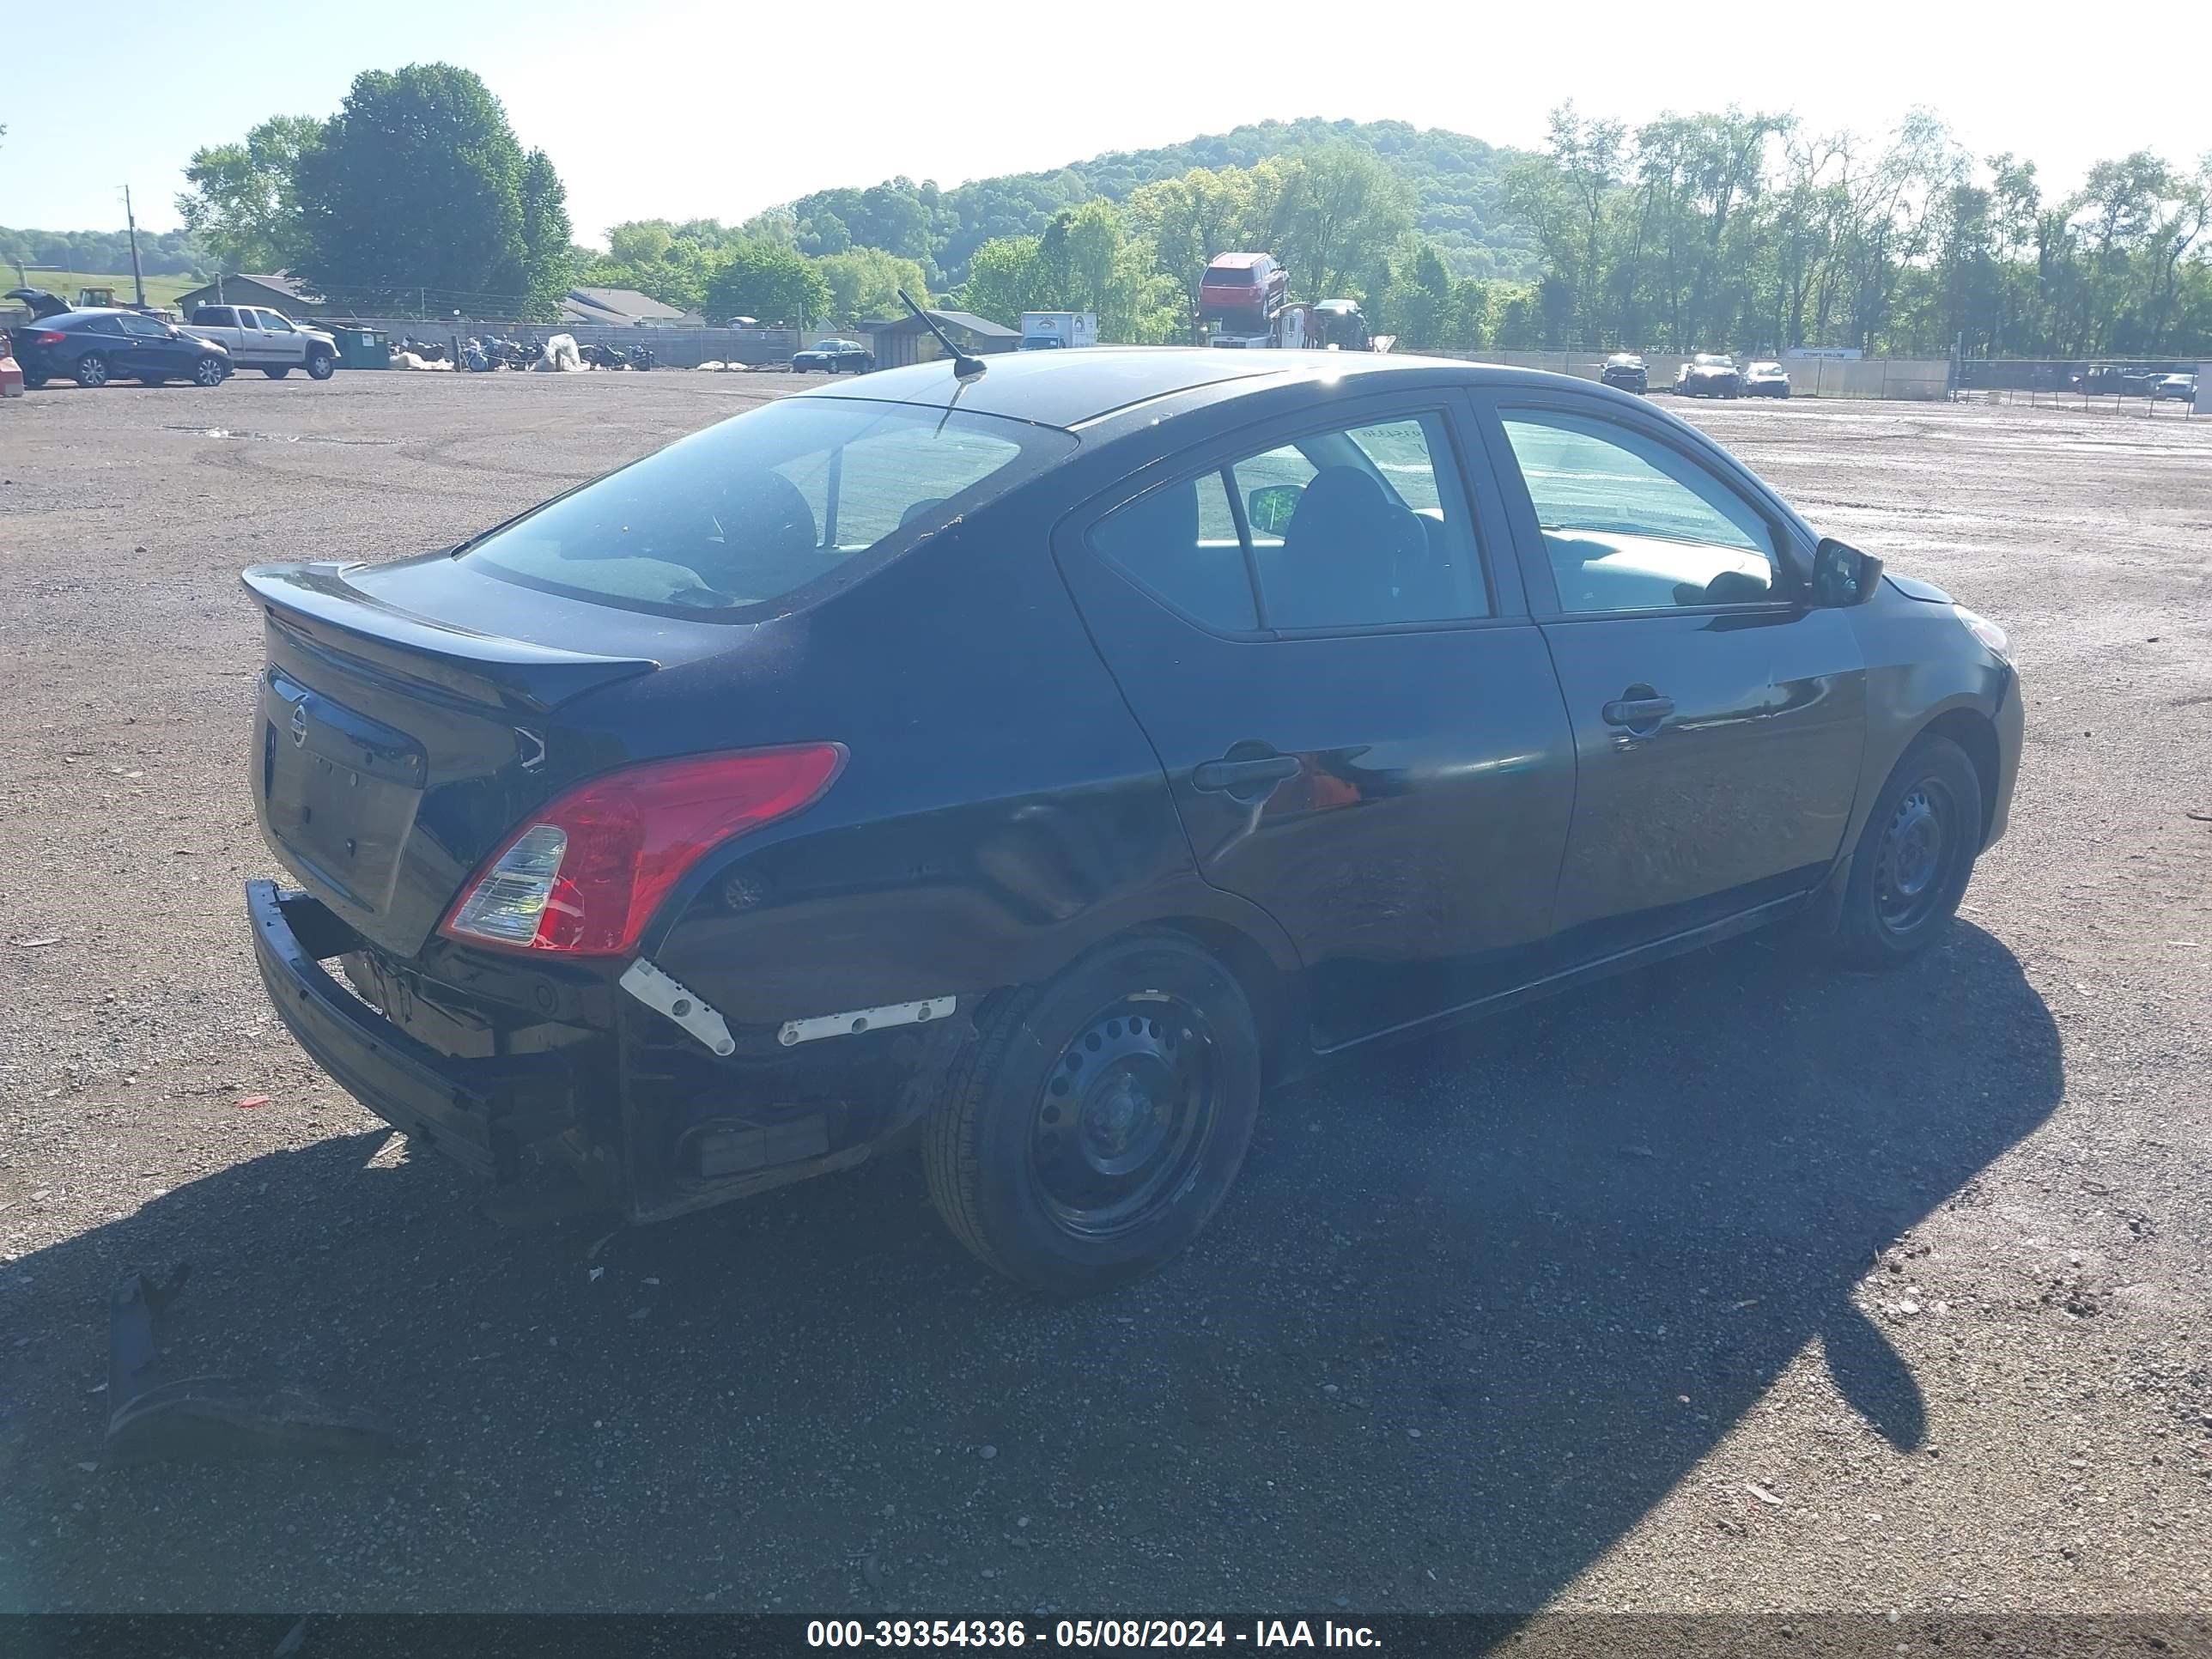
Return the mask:
<path id="1" fill-rule="evenodd" d="M 982 243 L 1037 234 L 1055 212 L 1093 197 L 1124 201 L 1130 190 L 1190 168 L 1248 168 L 1327 144 L 1374 150 L 1413 188 L 1416 226 L 1444 250 L 1455 274 L 1535 274 L 1535 241 L 1504 210 L 1502 177 L 1517 153 L 1407 122 L 1256 122 L 1186 144 L 1110 150 L 1053 173 L 1006 173 L 951 190 L 911 179 L 887 179 L 865 190 L 816 190 L 794 201 L 790 212 L 801 252 L 885 248 L 920 261 L 931 288 L 942 290 L 967 279 L 969 259 Z"/>

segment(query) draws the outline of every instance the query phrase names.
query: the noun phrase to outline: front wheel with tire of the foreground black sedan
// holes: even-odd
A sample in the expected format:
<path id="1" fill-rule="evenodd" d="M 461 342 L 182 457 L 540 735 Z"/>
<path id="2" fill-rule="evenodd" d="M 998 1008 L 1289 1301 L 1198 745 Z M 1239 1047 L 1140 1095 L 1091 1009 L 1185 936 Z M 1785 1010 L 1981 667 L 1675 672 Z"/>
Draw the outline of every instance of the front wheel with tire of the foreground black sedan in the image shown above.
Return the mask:
<path id="1" fill-rule="evenodd" d="M 1851 852 L 1836 956 L 1905 967 L 1933 945 L 1982 852 L 1982 776 L 1949 737 L 1922 732 L 1898 757 Z"/>

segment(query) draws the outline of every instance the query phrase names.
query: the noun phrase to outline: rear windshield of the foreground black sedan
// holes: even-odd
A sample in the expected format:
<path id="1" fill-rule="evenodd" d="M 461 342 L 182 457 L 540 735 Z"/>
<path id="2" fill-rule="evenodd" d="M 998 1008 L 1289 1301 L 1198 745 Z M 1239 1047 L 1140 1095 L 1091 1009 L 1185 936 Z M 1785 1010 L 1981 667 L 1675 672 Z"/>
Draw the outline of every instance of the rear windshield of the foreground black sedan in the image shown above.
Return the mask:
<path id="1" fill-rule="evenodd" d="M 856 571 L 973 511 L 1075 440 L 995 416 L 787 398 L 546 502 L 460 557 L 531 588 L 668 615 L 737 613 Z"/>

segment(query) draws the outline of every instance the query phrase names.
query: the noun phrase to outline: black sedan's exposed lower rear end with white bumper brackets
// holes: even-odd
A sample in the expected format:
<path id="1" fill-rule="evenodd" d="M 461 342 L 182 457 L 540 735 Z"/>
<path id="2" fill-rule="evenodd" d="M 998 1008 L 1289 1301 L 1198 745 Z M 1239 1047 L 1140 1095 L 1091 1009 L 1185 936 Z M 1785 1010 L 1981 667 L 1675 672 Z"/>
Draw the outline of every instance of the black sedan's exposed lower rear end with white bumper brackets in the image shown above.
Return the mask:
<path id="1" fill-rule="evenodd" d="M 246 907 L 270 1002 L 354 1099 L 489 1181 L 566 1170 L 630 1221 L 867 1159 L 973 1035 L 953 995 L 732 1026 L 644 958 L 557 982 L 467 951 L 394 962 L 312 894 L 254 880 Z"/>

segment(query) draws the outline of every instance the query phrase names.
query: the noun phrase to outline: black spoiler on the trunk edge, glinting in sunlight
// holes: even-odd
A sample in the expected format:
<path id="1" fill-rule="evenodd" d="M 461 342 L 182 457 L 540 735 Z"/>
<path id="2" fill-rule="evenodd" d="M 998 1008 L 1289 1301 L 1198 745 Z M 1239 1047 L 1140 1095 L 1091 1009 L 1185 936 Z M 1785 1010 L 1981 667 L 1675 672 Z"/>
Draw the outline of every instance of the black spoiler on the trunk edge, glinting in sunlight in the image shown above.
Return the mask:
<path id="1" fill-rule="evenodd" d="M 650 675 L 650 657 L 597 657 L 418 617 L 345 580 L 358 564 L 257 564 L 239 582 L 310 650 L 336 653 L 383 675 L 429 684 L 471 703 L 549 714 L 617 679 Z"/>

